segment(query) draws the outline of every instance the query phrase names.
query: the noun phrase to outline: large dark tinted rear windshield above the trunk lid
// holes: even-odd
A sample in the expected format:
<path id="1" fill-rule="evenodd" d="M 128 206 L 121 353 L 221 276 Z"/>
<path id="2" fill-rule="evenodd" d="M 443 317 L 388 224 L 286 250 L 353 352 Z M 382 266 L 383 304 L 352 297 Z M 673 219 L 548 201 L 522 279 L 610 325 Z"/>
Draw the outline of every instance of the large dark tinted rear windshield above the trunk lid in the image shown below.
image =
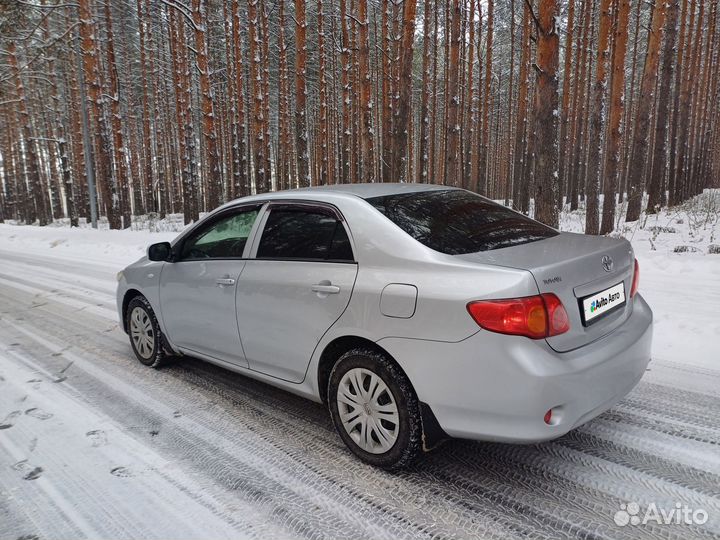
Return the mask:
<path id="1" fill-rule="evenodd" d="M 418 242 L 463 255 L 536 242 L 558 232 L 485 197 L 459 189 L 367 199 Z"/>

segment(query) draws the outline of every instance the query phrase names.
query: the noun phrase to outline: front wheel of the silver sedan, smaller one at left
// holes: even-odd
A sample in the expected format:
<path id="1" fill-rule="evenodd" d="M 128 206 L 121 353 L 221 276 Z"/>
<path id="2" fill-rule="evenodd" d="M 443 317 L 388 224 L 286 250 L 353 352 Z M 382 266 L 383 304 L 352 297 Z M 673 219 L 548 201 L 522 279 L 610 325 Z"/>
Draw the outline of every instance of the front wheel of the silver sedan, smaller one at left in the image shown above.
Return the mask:
<path id="1" fill-rule="evenodd" d="M 136 296 L 128 304 L 127 329 L 135 357 L 149 367 L 158 368 L 168 359 L 160 325 L 150 302 Z"/>

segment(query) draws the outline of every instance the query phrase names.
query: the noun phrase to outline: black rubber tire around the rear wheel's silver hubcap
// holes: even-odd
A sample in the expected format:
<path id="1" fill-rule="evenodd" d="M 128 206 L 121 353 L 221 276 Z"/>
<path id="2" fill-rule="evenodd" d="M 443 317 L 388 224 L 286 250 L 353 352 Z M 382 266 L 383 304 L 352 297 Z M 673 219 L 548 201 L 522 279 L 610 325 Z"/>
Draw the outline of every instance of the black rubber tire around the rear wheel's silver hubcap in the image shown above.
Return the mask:
<path id="1" fill-rule="evenodd" d="M 361 448 L 345 429 L 337 401 L 343 376 L 353 368 L 371 371 L 385 383 L 398 410 L 398 434 L 392 447 L 384 453 L 371 453 Z M 338 434 L 361 460 L 387 470 L 412 464 L 422 451 L 422 419 L 420 403 L 410 381 L 400 368 L 384 354 L 369 348 L 353 349 L 343 354 L 330 373 L 328 407 Z"/>

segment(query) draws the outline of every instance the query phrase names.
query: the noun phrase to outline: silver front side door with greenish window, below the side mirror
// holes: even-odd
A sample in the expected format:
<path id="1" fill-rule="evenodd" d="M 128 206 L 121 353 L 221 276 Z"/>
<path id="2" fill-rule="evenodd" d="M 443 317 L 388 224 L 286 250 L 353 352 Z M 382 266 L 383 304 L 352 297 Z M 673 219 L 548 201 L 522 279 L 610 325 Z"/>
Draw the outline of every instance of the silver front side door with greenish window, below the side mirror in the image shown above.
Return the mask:
<path id="1" fill-rule="evenodd" d="M 190 233 L 160 275 L 160 306 L 170 341 L 187 350 L 247 367 L 235 312 L 235 291 L 259 207 L 231 209 Z"/>

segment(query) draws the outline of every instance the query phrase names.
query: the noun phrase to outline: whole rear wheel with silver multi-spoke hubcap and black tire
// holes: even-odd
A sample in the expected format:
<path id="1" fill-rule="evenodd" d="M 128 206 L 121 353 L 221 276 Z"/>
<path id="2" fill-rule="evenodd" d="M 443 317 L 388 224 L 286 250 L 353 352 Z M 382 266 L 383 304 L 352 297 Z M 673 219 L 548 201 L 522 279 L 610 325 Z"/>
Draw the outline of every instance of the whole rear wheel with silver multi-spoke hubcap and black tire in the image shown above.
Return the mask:
<path id="1" fill-rule="evenodd" d="M 397 469 L 420 454 L 417 396 L 385 355 L 371 349 L 342 355 L 330 374 L 328 406 L 340 437 L 363 461 Z"/>

